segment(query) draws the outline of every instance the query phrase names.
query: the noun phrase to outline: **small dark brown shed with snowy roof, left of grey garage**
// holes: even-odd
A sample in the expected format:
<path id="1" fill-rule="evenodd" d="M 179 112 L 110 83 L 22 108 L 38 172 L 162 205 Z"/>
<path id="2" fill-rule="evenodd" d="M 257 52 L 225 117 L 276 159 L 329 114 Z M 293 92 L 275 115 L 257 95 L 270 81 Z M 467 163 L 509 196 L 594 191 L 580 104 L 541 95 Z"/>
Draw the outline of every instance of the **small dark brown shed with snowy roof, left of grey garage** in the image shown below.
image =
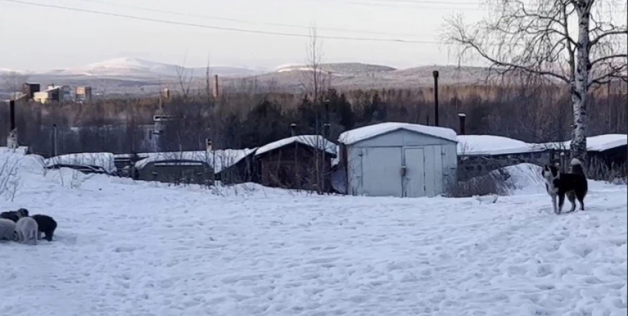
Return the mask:
<path id="1" fill-rule="evenodd" d="M 284 138 L 255 152 L 262 185 L 325 192 L 331 190 L 329 178 L 335 157 L 336 144 L 320 135 Z"/>

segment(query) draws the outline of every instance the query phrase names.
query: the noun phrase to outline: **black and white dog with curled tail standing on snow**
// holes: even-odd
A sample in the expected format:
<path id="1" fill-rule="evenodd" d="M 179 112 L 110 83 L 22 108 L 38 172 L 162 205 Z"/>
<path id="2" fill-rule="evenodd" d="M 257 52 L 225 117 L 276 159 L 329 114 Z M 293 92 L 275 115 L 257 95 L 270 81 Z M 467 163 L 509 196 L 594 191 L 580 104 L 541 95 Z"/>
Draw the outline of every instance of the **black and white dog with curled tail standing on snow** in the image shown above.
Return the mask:
<path id="1" fill-rule="evenodd" d="M 560 214 L 565 204 L 565 195 L 571 202 L 571 210 L 575 211 L 575 200 L 580 202 L 580 210 L 584 211 L 584 197 L 589 191 L 587 177 L 584 176 L 582 162 L 574 158 L 571 160 L 572 173 L 561 173 L 557 166 L 547 164 L 543 168 L 542 176 L 545 178 L 545 187 L 547 193 L 551 197 L 551 206 L 554 207 L 554 213 Z M 558 197 L 558 209 L 556 209 L 556 197 Z"/>

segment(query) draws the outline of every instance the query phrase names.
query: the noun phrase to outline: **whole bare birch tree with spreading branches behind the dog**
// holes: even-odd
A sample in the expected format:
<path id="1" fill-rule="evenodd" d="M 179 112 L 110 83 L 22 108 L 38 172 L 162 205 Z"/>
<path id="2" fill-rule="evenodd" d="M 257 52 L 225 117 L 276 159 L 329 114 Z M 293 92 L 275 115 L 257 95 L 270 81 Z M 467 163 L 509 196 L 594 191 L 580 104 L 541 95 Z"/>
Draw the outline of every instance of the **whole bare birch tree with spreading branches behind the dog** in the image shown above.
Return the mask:
<path id="1" fill-rule="evenodd" d="M 626 4 L 490 0 L 489 6 L 489 17 L 473 25 L 459 15 L 447 19 L 445 39 L 461 48 L 461 57 L 472 53 L 488 61 L 493 74 L 562 81 L 573 107 L 571 152 L 586 158 L 588 93 L 627 78 Z"/>

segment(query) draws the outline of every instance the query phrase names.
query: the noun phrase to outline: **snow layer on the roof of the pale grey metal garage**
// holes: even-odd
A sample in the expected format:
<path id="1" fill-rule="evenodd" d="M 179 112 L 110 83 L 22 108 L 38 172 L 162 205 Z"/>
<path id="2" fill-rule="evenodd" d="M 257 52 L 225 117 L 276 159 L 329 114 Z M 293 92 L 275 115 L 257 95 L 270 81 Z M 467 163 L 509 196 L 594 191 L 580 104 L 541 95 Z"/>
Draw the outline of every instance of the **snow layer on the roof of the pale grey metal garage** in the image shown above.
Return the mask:
<path id="1" fill-rule="evenodd" d="M 384 133 L 396 131 L 398 129 L 405 129 L 407 131 L 414 131 L 417 133 L 423 133 L 430 136 L 443 138 L 446 140 L 456 141 L 456 132 L 452 129 L 436 126 L 425 126 L 420 124 L 410 123 L 397 123 L 397 122 L 385 122 L 369 126 L 360 127 L 358 129 L 352 129 L 340 134 L 338 138 L 340 143 L 351 145 L 358 143 L 362 140 L 379 136 Z"/>

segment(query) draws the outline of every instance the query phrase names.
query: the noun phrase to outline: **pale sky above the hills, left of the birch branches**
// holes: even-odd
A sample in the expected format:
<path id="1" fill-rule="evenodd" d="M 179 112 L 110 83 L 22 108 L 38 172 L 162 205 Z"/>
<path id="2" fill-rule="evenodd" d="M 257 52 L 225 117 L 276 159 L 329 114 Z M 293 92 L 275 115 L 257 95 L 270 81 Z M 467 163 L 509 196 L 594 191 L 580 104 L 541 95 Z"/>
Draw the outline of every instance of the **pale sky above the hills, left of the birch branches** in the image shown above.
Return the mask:
<path id="1" fill-rule="evenodd" d="M 454 12 L 476 20 L 478 0 L 22 0 L 197 25 L 321 36 L 440 41 L 443 18 Z M 459 4 L 452 4 L 452 3 Z M 132 6 L 152 8 L 147 11 Z M 176 11 L 187 15 L 157 11 Z M 0 68 L 80 67 L 137 57 L 186 66 L 274 68 L 306 60 L 303 37 L 171 25 L 0 1 Z M 203 15 L 203 16 L 190 16 Z M 220 20 L 220 19 L 226 20 Z M 229 19 L 242 20 L 233 21 Z M 266 24 L 265 24 L 266 23 Z M 294 25 L 281 27 L 268 23 Z M 299 27 L 301 26 L 301 27 Z M 332 31 L 342 29 L 343 31 Z M 362 32 L 347 32 L 353 29 Z M 382 34 L 365 33 L 379 32 Z M 438 44 L 321 39 L 323 62 L 371 62 L 393 67 L 454 64 Z"/>

